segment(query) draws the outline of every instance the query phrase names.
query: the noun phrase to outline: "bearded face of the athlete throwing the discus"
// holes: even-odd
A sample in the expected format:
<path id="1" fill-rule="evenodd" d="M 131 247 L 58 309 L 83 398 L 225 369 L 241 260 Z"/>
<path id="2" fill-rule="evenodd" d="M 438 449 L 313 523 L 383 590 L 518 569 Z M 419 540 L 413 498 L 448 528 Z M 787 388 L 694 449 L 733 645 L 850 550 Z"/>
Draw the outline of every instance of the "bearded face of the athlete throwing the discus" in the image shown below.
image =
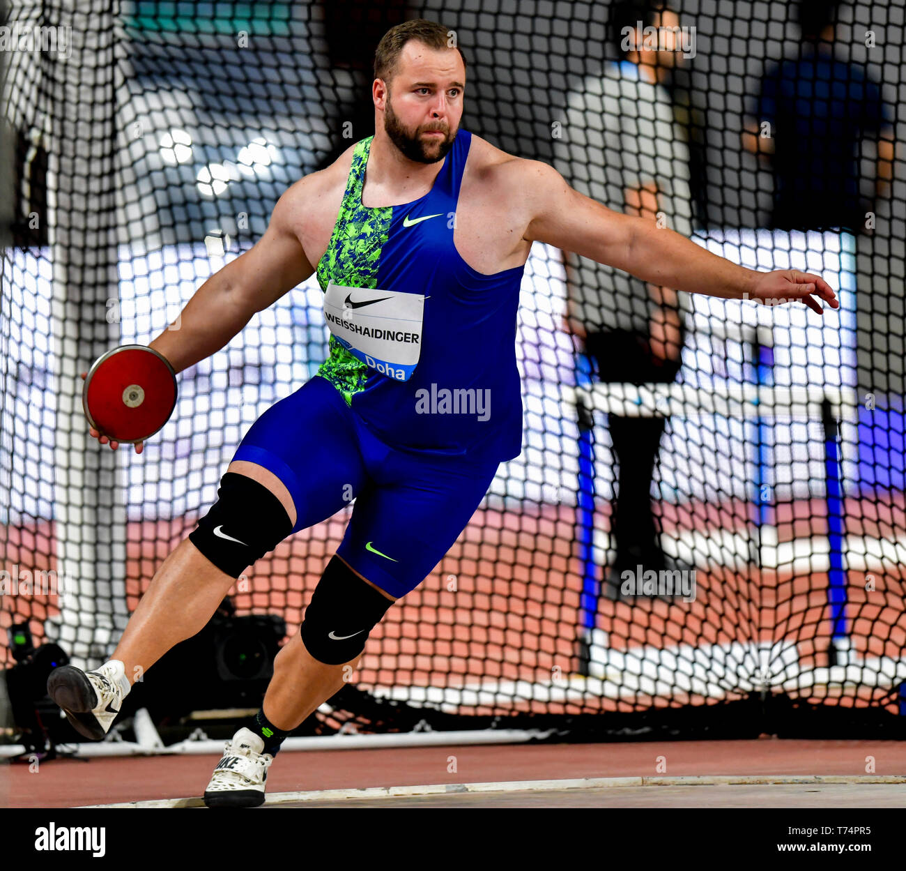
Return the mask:
<path id="1" fill-rule="evenodd" d="M 392 82 L 381 92 L 390 141 L 410 160 L 443 160 L 459 130 L 465 86 L 466 70 L 456 49 L 436 50 L 410 40 Z"/>

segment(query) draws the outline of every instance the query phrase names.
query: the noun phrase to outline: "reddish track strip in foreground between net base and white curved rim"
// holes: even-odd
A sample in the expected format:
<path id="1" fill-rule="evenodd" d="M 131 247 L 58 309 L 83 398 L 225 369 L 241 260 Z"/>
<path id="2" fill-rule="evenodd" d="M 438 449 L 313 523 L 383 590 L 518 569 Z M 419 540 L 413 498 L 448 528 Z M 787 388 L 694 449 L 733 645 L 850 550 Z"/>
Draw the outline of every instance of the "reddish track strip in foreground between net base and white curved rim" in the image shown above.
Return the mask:
<path id="1" fill-rule="evenodd" d="M 199 797 L 217 759 L 211 754 L 87 762 L 54 760 L 42 762 L 35 772 L 30 772 L 27 764 L 0 765 L 0 807 L 68 808 Z M 284 750 L 270 769 L 267 788 L 273 794 L 512 780 L 759 774 L 864 776 L 867 772 L 906 772 L 906 744 L 762 739 Z M 669 790 L 677 788 L 645 789 L 668 790 L 660 792 L 664 801 L 676 796 Z"/>

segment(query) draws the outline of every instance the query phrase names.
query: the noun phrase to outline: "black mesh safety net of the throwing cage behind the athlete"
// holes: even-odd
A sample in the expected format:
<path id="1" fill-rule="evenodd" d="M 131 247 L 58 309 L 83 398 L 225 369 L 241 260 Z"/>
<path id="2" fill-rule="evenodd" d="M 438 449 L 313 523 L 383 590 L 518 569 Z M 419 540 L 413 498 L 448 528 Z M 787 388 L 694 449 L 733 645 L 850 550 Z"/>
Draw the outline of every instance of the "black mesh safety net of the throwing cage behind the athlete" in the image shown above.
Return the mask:
<path id="1" fill-rule="evenodd" d="M 89 439 L 79 373 L 178 323 L 286 187 L 371 135 L 361 44 L 406 17 L 449 23 L 468 59 L 463 126 L 546 162 L 569 94 L 617 60 L 606 4 L 388 3 L 370 18 L 356 2 L 226 3 L 207 19 L 184 6 L 54 5 L 65 49 L 6 60 L 20 213 L 0 275 L 0 543 L 10 583 L 15 566 L 35 588 L 55 576 L 66 595 L 4 595 L 0 615 L 91 667 L 216 498 L 242 433 L 316 371 L 320 288 L 295 288 L 182 373 L 173 419 L 138 459 Z M 354 48 L 338 47 L 341 6 L 361 25 Z M 524 450 L 372 634 L 359 679 L 300 734 L 902 737 L 901 160 L 871 234 L 766 228 L 770 175 L 736 142 L 761 73 L 801 50 L 792 9 L 673 6 L 698 38 L 670 89 L 696 182 L 692 238 L 747 266 L 820 272 L 841 314 L 819 324 L 696 296 L 677 382 L 602 384 L 562 328 L 563 257 L 535 243 L 518 323 Z M 844 6 L 837 30 L 838 51 L 890 102 L 895 139 L 904 6 Z M 20 33 L 51 22 L 41 4 L 11 9 Z M 617 412 L 668 419 L 651 497 L 665 551 L 699 569 L 692 602 L 602 595 Z M 293 634 L 351 510 L 248 570 L 237 613 L 284 615 Z M 10 664 L 0 639 L 0 667 Z"/>

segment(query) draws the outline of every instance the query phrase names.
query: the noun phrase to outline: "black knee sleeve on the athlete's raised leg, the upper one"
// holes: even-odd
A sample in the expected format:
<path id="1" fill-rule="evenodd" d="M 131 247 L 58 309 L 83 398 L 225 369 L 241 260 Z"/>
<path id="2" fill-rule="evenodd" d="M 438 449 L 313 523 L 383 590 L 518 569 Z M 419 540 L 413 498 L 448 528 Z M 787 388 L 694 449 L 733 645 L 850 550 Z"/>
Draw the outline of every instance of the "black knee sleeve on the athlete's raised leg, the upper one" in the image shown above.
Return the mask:
<path id="1" fill-rule="evenodd" d="M 238 577 L 283 541 L 293 524 L 280 499 L 246 475 L 226 472 L 217 496 L 188 540 L 222 572 Z"/>

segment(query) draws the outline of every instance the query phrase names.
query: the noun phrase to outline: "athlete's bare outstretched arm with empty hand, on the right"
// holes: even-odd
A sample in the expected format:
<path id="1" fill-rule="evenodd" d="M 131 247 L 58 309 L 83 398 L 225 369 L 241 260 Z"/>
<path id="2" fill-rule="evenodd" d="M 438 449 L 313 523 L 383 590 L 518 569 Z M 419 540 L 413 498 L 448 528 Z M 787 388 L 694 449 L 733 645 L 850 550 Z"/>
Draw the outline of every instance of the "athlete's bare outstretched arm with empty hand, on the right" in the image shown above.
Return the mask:
<path id="1" fill-rule="evenodd" d="M 573 251 L 652 285 L 690 294 L 754 299 L 767 305 L 802 300 L 819 315 L 823 309 L 815 296 L 832 308 L 840 305 L 821 276 L 796 269 L 765 273 L 737 266 L 654 221 L 622 215 L 585 197 L 540 160 L 520 161 L 519 172 L 528 241 Z"/>

